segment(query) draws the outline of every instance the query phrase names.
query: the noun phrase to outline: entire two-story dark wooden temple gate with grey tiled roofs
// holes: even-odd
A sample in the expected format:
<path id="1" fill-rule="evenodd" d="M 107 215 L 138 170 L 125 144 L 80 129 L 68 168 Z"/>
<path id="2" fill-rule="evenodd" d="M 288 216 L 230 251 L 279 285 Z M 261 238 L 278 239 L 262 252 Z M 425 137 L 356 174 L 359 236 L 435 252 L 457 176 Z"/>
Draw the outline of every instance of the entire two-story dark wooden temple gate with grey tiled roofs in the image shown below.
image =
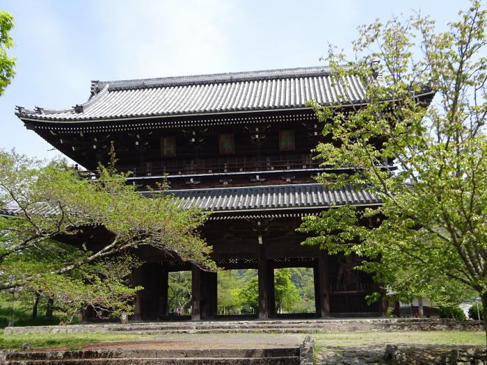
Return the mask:
<path id="1" fill-rule="evenodd" d="M 381 200 L 365 190 L 330 190 L 315 177 L 333 166 L 313 159 L 323 127 L 308 100 L 343 104 L 367 101 L 353 76 L 336 82 L 326 67 L 92 81 L 88 102 L 65 110 L 17 107 L 27 129 L 88 170 L 106 163 L 113 143 L 116 167 L 144 193 L 167 181 L 170 193 L 211 211 L 202 236 L 225 269 L 258 271 L 258 318 L 276 314 L 274 269 L 314 270 L 316 316 L 380 316 L 370 275 L 353 270 L 354 257 L 328 255 L 301 245 L 303 216 L 352 204 L 374 208 Z M 215 318 L 217 274 L 164 252 L 141 250 L 134 282 L 135 318 L 167 318 L 168 273 L 191 270 L 192 318 Z"/>

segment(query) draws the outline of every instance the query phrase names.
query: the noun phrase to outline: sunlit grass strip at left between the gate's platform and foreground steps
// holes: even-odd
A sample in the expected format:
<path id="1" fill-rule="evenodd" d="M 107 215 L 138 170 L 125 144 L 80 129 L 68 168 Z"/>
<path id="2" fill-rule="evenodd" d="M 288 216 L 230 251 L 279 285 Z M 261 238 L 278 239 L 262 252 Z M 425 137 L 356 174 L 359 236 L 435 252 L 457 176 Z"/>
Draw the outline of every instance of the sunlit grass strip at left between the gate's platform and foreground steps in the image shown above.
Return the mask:
<path id="1" fill-rule="evenodd" d="M 111 334 L 111 333 L 56 333 L 56 334 L 0 334 L 0 349 L 18 350 L 24 343 L 33 348 L 81 349 L 81 346 L 115 341 L 154 339 L 151 334 Z"/>

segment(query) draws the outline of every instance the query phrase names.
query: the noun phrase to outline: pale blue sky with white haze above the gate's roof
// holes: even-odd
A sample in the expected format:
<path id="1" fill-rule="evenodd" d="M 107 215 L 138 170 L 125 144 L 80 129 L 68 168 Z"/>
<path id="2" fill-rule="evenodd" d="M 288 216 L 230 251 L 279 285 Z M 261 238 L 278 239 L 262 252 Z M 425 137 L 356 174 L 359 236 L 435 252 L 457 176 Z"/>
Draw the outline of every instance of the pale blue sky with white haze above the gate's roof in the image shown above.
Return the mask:
<path id="1" fill-rule="evenodd" d="M 349 50 L 360 24 L 421 10 L 446 29 L 466 0 L 1 0 L 15 17 L 17 75 L 0 97 L 0 147 L 58 152 L 15 105 L 65 108 L 90 80 L 139 79 L 320 65 L 328 42 Z"/>

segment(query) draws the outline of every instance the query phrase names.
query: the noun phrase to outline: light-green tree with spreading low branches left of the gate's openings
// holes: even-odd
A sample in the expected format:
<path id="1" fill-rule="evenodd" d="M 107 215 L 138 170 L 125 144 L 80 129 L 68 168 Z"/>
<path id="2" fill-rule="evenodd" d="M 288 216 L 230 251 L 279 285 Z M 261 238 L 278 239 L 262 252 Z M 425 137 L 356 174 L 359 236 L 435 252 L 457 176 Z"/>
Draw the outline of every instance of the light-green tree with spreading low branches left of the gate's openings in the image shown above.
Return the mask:
<path id="1" fill-rule="evenodd" d="M 90 305 L 99 316 L 130 311 L 140 287 L 128 286 L 138 261 L 130 250 L 143 246 L 214 270 L 211 250 L 197 229 L 207 214 L 183 210 L 170 195 L 144 197 L 126 175 L 99 168 L 83 179 L 64 161 L 43 165 L 16 152 L 0 152 L 0 291 L 42 293 L 70 314 Z M 104 227 L 103 245 L 76 243 L 90 227 Z M 69 310 L 68 310 L 69 309 Z"/>

